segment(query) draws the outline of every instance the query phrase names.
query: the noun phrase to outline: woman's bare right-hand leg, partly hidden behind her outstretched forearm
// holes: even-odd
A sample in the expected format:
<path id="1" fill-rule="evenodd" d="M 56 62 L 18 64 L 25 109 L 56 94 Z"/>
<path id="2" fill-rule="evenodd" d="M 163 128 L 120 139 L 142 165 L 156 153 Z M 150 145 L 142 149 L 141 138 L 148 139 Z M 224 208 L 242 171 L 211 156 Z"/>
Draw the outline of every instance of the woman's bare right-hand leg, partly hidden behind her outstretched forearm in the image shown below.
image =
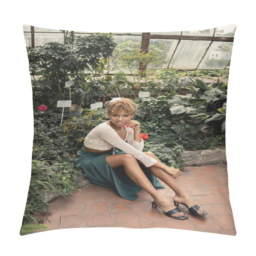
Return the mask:
<path id="1" fill-rule="evenodd" d="M 161 162 L 154 153 L 152 152 L 143 152 L 146 155 L 156 159 L 157 161 Z M 188 208 L 192 207 L 195 205 L 194 201 L 192 200 L 192 198 L 190 196 L 188 196 L 188 194 L 186 193 L 186 191 L 181 188 L 180 184 L 177 182 L 177 180 L 170 175 L 167 172 L 164 172 L 162 169 L 155 167 L 155 166 L 150 166 L 149 170 L 160 180 L 164 181 L 164 183 L 166 183 L 170 188 L 172 188 L 172 190 L 175 192 L 175 196 L 173 197 L 173 200 L 176 201 L 177 203 L 183 203 L 188 205 Z M 198 214 L 203 214 L 204 210 L 202 208 L 200 208 L 197 213 Z"/>

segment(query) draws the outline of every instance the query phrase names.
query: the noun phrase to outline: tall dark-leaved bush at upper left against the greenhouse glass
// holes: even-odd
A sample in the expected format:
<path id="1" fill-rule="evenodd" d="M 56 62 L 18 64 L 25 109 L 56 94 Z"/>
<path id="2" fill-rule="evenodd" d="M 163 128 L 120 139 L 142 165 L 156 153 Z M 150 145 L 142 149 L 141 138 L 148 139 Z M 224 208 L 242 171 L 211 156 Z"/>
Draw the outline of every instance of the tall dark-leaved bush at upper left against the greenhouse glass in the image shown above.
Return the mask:
<path id="1" fill-rule="evenodd" d="M 37 93 L 34 100 L 40 105 L 44 102 L 48 107 L 55 106 L 57 100 L 69 98 L 69 89 L 65 88 L 65 82 L 73 80 L 76 86 L 74 101 L 81 101 L 80 98 L 84 97 L 83 90 L 92 86 L 92 79 L 88 81 L 88 76 L 82 76 L 81 72 L 96 72 L 98 65 L 105 65 L 104 61 L 101 61 L 102 58 L 106 60 L 111 56 L 115 46 L 111 35 L 92 34 L 84 37 L 74 36 L 68 44 L 50 42 L 35 48 L 28 47 L 29 68 L 34 77 L 32 85 Z M 35 79 L 35 76 L 39 78 Z M 93 80 L 95 86 L 98 86 L 98 80 L 99 77 Z M 93 103 L 95 99 L 91 101 Z M 87 101 L 87 104 L 89 103 Z"/>

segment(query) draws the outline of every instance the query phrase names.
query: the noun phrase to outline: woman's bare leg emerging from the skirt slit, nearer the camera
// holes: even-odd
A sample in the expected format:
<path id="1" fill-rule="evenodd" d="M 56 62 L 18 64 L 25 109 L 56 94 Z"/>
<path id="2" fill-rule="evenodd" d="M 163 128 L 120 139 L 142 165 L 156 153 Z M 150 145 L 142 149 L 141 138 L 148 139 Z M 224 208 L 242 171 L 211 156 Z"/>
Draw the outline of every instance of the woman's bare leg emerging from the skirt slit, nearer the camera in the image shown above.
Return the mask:
<path id="1" fill-rule="evenodd" d="M 106 156 L 106 161 L 112 169 L 124 166 L 124 171 L 129 178 L 134 181 L 140 188 L 144 189 L 152 196 L 156 204 L 161 207 L 164 212 L 171 211 L 176 208 L 166 197 L 161 195 L 148 180 L 145 173 L 141 170 L 136 158 L 131 154 L 118 154 Z M 168 174 L 169 175 L 169 174 Z M 183 212 L 172 214 L 174 217 L 184 216 Z"/>

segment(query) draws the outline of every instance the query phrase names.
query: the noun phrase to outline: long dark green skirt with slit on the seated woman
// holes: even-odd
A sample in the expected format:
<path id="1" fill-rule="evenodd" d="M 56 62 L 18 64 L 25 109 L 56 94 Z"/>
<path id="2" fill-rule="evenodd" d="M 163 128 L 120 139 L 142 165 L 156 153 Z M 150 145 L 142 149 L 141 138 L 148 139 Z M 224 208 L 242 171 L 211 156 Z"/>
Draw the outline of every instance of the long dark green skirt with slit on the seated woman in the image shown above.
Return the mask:
<path id="1" fill-rule="evenodd" d="M 117 154 L 125 154 L 125 152 L 115 150 L 115 155 Z M 77 151 L 75 159 L 76 168 L 83 170 L 87 178 L 93 183 L 116 189 L 120 196 L 134 201 L 138 196 L 137 193 L 142 188 L 128 177 L 123 166 L 112 169 L 106 161 L 106 156 L 109 155 L 112 155 L 112 152 L 98 154 L 81 149 Z M 164 188 L 145 165 L 140 164 L 140 168 L 156 189 Z"/>

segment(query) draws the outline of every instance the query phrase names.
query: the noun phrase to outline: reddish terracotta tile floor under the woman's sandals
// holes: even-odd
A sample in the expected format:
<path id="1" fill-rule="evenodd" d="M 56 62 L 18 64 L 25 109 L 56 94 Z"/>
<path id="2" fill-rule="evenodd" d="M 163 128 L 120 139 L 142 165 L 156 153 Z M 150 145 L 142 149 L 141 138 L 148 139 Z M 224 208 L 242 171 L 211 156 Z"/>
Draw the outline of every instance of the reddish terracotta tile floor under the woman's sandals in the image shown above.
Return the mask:
<path id="1" fill-rule="evenodd" d="M 54 200 L 52 210 L 45 214 L 47 218 L 38 215 L 38 218 L 46 219 L 44 224 L 50 228 L 42 231 L 87 227 L 177 228 L 235 236 L 227 165 L 193 166 L 186 167 L 186 170 L 182 172 L 179 183 L 208 212 L 203 218 L 191 215 L 181 205 L 188 219 L 175 220 L 164 215 L 161 209 L 152 208 L 152 197 L 144 190 L 138 193 L 135 201 L 129 201 L 110 188 L 91 183 L 81 191 Z M 158 191 L 172 201 L 172 189 L 163 185 L 165 189 Z"/>

